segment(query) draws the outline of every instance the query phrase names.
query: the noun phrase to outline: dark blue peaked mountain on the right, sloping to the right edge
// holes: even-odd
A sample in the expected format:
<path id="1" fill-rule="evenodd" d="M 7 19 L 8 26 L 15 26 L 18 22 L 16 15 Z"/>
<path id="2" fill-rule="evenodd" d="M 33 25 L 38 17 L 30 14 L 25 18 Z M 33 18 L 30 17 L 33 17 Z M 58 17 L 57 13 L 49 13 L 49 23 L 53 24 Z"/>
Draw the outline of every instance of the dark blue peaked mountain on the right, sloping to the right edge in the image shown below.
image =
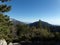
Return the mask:
<path id="1" fill-rule="evenodd" d="M 60 32 L 60 26 L 58 26 L 58 25 L 52 25 L 52 24 L 49 24 L 49 23 L 41 21 L 41 20 L 33 22 L 33 23 L 30 23 L 29 26 L 30 27 L 34 26 L 34 27 L 38 28 L 39 23 L 40 23 L 40 26 L 42 28 L 49 28 L 50 31 L 52 31 L 52 32 Z"/>

